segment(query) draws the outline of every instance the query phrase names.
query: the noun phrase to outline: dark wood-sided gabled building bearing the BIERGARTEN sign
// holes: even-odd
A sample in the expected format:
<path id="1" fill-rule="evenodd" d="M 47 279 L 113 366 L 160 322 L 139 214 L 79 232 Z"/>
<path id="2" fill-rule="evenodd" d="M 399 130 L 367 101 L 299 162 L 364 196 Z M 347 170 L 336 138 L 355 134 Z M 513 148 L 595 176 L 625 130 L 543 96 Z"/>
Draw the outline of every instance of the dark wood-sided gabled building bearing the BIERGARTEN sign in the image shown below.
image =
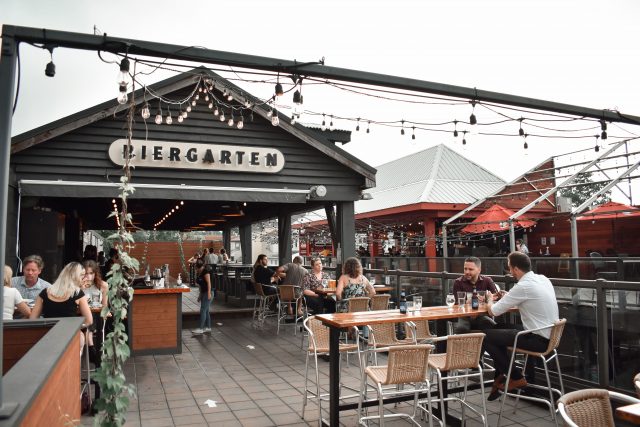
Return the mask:
<path id="1" fill-rule="evenodd" d="M 238 226 L 243 254 L 251 254 L 250 224 L 278 218 L 282 262 L 291 256 L 291 215 L 335 209 L 334 237 L 345 253 L 354 252 L 353 204 L 375 185 L 376 171 L 336 146 L 348 142 L 348 133 L 292 125 L 276 110 L 274 125 L 269 105 L 205 69 L 132 95 L 135 192 L 129 212 L 138 227 L 218 229 L 227 231 L 228 242 L 229 230 Z M 147 103 L 151 116 L 144 120 Z M 9 264 L 38 253 L 48 264 L 43 276 L 53 279 L 80 256 L 83 231 L 116 228 L 107 216 L 114 206 L 120 209 L 128 106 L 114 99 L 13 138 Z"/>

